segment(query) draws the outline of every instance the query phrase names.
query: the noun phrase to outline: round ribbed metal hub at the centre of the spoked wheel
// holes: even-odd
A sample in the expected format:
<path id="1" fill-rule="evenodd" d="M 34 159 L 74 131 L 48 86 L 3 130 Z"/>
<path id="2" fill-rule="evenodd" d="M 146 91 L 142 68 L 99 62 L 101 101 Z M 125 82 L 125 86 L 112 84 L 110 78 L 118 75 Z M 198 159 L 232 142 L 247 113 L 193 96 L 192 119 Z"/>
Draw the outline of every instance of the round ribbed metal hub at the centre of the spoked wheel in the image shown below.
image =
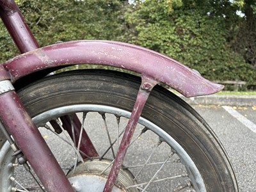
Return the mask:
<path id="1" fill-rule="evenodd" d="M 79 163 L 76 170 L 68 172 L 67 177 L 73 188 L 77 192 L 101 192 L 104 189 L 111 170 L 111 160 L 109 159 L 86 159 Z M 137 184 L 134 176 L 129 170 L 120 169 L 118 179 L 116 179 L 113 192 L 138 192 L 136 188 L 125 189 L 128 186 Z"/>

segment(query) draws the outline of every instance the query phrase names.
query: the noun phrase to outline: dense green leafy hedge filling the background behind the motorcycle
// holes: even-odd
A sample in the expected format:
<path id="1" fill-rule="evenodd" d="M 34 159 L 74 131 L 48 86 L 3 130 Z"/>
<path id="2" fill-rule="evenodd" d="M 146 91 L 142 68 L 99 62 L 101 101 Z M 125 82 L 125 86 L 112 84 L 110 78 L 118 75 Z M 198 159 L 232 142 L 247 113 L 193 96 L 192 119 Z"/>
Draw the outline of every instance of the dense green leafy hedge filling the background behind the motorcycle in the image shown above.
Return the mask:
<path id="1" fill-rule="evenodd" d="M 256 84 L 254 0 L 17 3 L 41 46 L 59 40 L 118 40 L 166 54 L 211 80 Z M 0 41 L 2 62 L 19 54 L 3 26 Z"/>

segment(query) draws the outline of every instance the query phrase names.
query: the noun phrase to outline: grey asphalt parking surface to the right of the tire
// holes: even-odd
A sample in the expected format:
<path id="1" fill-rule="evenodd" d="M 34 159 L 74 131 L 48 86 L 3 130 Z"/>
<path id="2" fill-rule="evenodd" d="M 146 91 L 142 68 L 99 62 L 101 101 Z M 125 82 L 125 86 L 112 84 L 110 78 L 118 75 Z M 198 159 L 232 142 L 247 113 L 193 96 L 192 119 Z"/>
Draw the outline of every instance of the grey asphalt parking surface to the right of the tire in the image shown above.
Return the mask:
<path id="1" fill-rule="evenodd" d="M 256 108 L 232 108 L 239 117 L 228 113 L 223 106 L 193 106 L 216 132 L 227 150 L 237 176 L 241 192 L 256 191 L 256 132 L 252 127 L 256 124 Z M 250 120 L 253 124 L 246 125 Z"/>

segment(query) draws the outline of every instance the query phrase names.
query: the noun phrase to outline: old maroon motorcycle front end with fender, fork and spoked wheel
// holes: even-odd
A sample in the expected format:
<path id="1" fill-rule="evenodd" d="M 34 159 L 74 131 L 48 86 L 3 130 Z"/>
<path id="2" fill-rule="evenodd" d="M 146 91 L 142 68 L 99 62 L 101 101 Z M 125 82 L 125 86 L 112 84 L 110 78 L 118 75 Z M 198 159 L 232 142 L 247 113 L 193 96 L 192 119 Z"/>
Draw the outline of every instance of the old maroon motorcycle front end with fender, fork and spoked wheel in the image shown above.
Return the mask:
<path id="1" fill-rule="evenodd" d="M 209 125 L 159 83 L 186 97 L 222 85 L 132 44 L 39 47 L 15 1 L 0 0 L 0 15 L 21 53 L 0 65 L 1 191 L 238 191 Z M 52 73 L 84 63 L 140 77 L 99 69 Z"/>

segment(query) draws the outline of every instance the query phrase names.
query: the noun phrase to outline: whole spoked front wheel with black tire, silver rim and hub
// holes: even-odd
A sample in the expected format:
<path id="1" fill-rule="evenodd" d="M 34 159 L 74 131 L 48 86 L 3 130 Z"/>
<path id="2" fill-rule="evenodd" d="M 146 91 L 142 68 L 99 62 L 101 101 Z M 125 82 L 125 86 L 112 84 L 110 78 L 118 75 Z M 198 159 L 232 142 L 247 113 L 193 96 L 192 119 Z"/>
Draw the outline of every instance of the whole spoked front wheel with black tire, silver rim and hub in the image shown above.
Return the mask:
<path id="1" fill-rule="evenodd" d="M 19 91 L 76 191 L 104 188 L 140 84 L 140 77 L 121 72 L 77 70 L 45 77 Z M 99 156 L 77 155 L 79 147 L 61 122 L 61 116 L 70 116 L 72 122 L 74 114 Z M 56 122 L 60 130 L 49 122 Z M 0 145 L 0 191 L 42 190 L 17 165 L 8 143 Z M 113 191 L 224 192 L 238 188 L 227 154 L 209 125 L 182 99 L 156 86 Z"/>

